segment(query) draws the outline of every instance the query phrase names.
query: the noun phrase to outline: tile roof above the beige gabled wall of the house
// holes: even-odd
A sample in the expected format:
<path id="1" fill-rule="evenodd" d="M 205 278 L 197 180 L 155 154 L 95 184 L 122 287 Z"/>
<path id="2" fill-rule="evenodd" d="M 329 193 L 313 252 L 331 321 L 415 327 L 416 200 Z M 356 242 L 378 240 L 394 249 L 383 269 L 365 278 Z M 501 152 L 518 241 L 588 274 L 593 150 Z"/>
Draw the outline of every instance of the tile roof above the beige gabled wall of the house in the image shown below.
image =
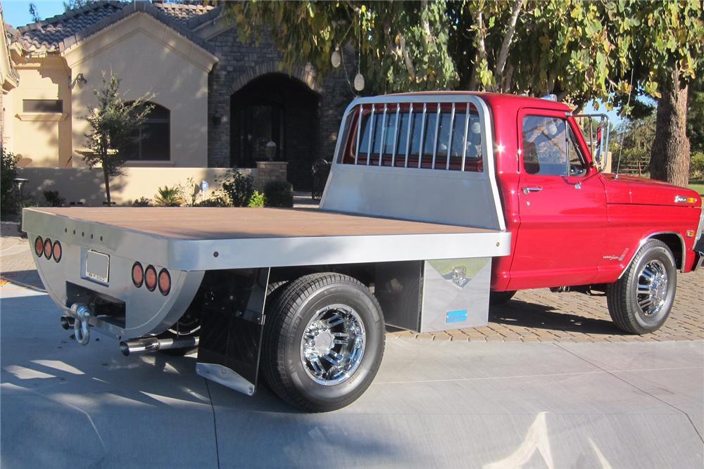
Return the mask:
<path id="1" fill-rule="evenodd" d="M 189 23 L 194 23 L 194 20 L 197 20 L 201 15 L 206 15 L 215 9 L 213 6 L 151 4 L 146 1 L 129 3 L 90 1 L 81 8 L 69 10 L 44 21 L 18 27 L 18 37 L 15 39 L 24 49 L 29 51 L 63 51 L 78 41 L 103 30 L 103 28 L 117 23 L 122 18 L 142 11 L 171 27 L 172 30 L 203 49 L 213 52 L 213 46 L 194 34 Z"/>

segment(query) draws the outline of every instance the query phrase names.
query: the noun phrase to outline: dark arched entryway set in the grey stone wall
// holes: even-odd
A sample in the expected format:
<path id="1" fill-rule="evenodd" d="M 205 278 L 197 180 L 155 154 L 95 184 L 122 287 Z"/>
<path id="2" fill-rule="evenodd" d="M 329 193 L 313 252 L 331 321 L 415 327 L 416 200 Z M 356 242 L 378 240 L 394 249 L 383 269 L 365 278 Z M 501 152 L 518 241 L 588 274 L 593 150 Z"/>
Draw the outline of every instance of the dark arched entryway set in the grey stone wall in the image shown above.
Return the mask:
<path id="1" fill-rule="evenodd" d="M 230 98 L 230 162 L 256 167 L 267 160 L 265 150 L 275 143 L 273 160 L 287 161 L 288 179 L 296 189 L 312 183 L 318 137 L 319 96 L 306 84 L 282 73 L 253 79 Z"/>

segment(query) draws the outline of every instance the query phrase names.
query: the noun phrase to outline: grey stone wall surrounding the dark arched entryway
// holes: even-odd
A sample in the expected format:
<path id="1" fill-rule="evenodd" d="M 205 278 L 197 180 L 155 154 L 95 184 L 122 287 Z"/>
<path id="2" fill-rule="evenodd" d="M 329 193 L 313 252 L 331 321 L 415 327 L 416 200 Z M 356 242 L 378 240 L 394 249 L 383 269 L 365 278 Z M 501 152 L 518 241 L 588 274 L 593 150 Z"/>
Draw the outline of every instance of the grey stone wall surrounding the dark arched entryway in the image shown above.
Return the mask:
<path id="1" fill-rule="evenodd" d="M 208 77 L 208 166 L 230 167 L 230 96 L 256 77 L 281 72 L 280 56 L 268 37 L 258 46 L 239 42 L 234 27 L 209 41 L 220 60 Z M 353 77 L 356 63 L 348 63 L 347 70 Z M 339 68 L 320 83 L 310 68 L 296 68 L 290 75 L 320 95 L 318 142 L 312 160 L 332 160 L 342 113 L 354 98 L 344 70 Z M 221 118 L 219 124 L 214 123 L 214 116 Z"/>

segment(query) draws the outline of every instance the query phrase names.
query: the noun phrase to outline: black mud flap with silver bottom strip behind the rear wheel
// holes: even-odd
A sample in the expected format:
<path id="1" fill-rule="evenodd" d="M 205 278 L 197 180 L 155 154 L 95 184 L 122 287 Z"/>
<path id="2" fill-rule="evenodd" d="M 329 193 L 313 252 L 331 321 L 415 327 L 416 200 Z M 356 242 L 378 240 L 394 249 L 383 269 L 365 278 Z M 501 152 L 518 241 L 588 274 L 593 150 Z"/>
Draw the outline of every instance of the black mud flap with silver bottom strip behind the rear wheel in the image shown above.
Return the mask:
<path id="1" fill-rule="evenodd" d="M 268 267 L 206 273 L 196 373 L 254 394 L 268 281 Z"/>

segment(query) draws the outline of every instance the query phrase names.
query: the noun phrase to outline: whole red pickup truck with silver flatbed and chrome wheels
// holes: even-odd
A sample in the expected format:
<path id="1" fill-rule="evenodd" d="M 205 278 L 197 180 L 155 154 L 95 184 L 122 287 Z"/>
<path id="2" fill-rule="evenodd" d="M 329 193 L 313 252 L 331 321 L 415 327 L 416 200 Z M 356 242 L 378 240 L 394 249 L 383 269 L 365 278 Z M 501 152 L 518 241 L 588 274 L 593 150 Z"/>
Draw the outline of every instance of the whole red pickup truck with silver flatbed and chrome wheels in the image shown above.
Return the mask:
<path id="1" fill-rule="evenodd" d="M 384 323 L 483 326 L 490 301 L 553 288 L 605 291 L 629 333 L 662 326 L 677 269 L 702 263 L 702 200 L 604 174 L 592 147 L 553 101 L 358 98 L 320 210 L 25 209 L 23 226 L 80 343 L 98 330 L 124 354 L 197 346 L 196 373 L 251 395 L 261 371 L 327 411 L 370 385 Z"/>

